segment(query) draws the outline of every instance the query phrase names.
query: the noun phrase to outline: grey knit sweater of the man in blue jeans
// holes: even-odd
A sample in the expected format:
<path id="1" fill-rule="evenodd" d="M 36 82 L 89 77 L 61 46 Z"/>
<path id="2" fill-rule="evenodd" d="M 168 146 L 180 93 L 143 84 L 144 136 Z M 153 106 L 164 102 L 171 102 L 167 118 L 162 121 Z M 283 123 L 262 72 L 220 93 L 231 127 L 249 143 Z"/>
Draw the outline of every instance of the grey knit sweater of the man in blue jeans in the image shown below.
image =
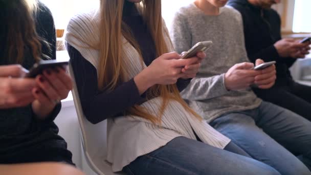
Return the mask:
<path id="1" fill-rule="evenodd" d="M 181 93 L 209 122 L 222 114 L 250 110 L 261 103 L 251 89 L 227 91 L 224 84 L 224 75 L 234 64 L 249 62 L 242 27 L 241 15 L 230 7 L 221 8 L 217 16 L 208 16 L 190 4 L 174 16 L 170 34 L 177 52 L 187 51 L 199 41 L 213 41 L 197 77 Z"/>

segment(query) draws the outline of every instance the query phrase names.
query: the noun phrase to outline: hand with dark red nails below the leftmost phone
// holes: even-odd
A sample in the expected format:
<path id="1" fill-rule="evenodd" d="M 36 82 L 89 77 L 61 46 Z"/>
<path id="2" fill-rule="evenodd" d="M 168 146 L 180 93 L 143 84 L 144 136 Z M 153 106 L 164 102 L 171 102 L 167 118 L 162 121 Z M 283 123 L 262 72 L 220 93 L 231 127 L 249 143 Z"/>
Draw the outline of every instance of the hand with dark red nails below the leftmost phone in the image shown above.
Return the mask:
<path id="1" fill-rule="evenodd" d="M 47 117 L 60 100 L 72 90 L 71 78 L 62 68 L 48 69 L 36 77 L 39 88 L 32 90 L 35 101 L 32 108 L 36 116 Z"/>

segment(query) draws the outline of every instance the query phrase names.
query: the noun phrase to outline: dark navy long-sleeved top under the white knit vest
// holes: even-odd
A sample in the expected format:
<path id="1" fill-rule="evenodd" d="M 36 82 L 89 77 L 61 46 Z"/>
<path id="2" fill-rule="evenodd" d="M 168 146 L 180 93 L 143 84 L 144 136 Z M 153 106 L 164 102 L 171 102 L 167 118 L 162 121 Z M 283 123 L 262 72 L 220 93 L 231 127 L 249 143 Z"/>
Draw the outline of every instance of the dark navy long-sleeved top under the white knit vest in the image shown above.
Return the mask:
<path id="1" fill-rule="evenodd" d="M 148 66 L 156 59 L 156 49 L 151 34 L 133 3 L 125 1 L 123 9 L 122 20 L 138 42 L 143 60 Z M 146 101 L 145 94 L 139 94 L 134 79 L 120 83 L 113 91 L 99 91 L 96 68 L 74 47 L 69 44 L 66 46 L 75 73 L 83 113 L 90 122 L 98 123 L 108 117 L 121 116 L 129 107 Z M 190 80 L 179 79 L 177 87 L 182 91 L 189 82 Z"/>

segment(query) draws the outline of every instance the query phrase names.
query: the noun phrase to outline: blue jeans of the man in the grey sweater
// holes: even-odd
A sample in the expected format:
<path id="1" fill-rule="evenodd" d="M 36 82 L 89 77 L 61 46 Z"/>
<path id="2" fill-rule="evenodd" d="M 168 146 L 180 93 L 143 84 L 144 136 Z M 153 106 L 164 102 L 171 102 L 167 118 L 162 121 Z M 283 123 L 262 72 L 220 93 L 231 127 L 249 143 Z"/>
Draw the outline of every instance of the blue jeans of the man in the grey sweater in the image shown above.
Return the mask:
<path id="1" fill-rule="evenodd" d="M 281 174 L 311 174 L 294 156 L 302 155 L 306 165 L 311 160 L 311 122 L 291 111 L 262 102 L 254 110 L 225 114 L 210 124 Z"/>

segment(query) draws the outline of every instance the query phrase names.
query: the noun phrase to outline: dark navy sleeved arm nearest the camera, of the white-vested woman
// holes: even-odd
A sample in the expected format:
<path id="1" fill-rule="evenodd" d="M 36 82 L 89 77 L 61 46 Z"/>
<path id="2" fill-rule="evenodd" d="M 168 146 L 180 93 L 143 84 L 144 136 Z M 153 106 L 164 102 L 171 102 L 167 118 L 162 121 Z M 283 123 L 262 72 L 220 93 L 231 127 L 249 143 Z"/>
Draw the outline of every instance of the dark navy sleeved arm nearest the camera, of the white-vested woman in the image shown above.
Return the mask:
<path id="1" fill-rule="evenodd" d="M 112 91 L 99 91 L 97 70 L 94 65 L 72 46 L 67 45 L 67 50 L 71 57 L 83 113 L 88 121 L 101 122 L 123 113 L 129 107 L 144 100 L 140 91 L 143 93 L 148 86 L 144 86 L 147 83 L 144 82 L 143 72 L 138 76 L 139 85 L 134 79 L 130 79 L 120 83 Z"/>

